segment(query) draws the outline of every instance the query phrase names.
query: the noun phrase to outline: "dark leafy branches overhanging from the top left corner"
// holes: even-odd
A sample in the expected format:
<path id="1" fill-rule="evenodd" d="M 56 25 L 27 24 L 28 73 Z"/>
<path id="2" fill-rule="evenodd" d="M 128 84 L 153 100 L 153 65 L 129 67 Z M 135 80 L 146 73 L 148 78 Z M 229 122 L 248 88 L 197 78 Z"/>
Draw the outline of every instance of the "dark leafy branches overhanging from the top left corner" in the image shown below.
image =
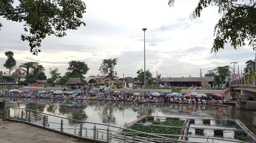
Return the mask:
<path id="1" fill-rule="evenodd" d="M 30 52 L 38 54 L 41 42 L 46 36 L 66 36 L 67 30 L 77 30 L 86 11 L 81 0 L 45 1 L 0 1 L 0 16 L 15 22 L 24 22 L 23 41 L 28 41 Z M 3 25 L 0 23 L 0 29 Z"/>

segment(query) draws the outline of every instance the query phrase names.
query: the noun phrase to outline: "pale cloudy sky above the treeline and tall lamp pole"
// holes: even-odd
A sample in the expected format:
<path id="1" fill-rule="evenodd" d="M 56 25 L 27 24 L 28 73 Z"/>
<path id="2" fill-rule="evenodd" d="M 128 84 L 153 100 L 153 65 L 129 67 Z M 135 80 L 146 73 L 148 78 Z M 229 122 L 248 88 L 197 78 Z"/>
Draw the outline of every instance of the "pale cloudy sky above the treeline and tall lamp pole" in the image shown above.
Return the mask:
<path id="1" fill-rule="evenodd" d="M 218 53 L 210 53 L 213 44 L 214 26 L 221 17 L 216 7 L 203 10 L 201 17 L 190 19 L 198 0 L 177 0 L 174 7 L 168 0 L 84 0 L 87 12 L 81 26 L 76 31 L 68 31 L 67 36 L 49 36 L 41 43 L 41 52 L 30 53 L 28 42 L 20 40 L 24 33 L 23 24 L 7 21 L 0 17 L 3 27 L 0 31 L 0 70 L 8 71 L 3 64 L 5 51 L 14 52 L 17 66 L 26 62 L 39 62 L 46 69 L 59 68 L 64 75 L 68 62 L 84 61 L 90 70 L 86 74 L 100 74 L 103 59 L 118 58 L 115 67 L 117 75 L 136 77 L 136 72 L 144 69 L 144 33 L 146 49 L 146 69 L 153 76 L 192 77 L 207 73 L 217 66 L 230 66 L 238 62 L 240 69 L 245 62 L 254 60 L 255 51 L 248 46 L 234 50 L 230 44 Z M 236 66 L 236 67 L 237 67 Z"/>

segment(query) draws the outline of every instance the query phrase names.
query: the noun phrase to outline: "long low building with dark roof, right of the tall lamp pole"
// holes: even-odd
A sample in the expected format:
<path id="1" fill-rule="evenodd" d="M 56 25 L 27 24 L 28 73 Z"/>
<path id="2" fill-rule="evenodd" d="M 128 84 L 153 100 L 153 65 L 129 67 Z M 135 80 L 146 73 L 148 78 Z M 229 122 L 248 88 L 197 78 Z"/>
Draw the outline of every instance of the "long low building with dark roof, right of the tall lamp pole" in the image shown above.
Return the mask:
<path id="1" fill-rule="evenodd" d="M 225 82 L 229 77 L 227 76 Z M 161 82 L 168 87 L 212 87 L 214 77 L 168 77 Z"/>

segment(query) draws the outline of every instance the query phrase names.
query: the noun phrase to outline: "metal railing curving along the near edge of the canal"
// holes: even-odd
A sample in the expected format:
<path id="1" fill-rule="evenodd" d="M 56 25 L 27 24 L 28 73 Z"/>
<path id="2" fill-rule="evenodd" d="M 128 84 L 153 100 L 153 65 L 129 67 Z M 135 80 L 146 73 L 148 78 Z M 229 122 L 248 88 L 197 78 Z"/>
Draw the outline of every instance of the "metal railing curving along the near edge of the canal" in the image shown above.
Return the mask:
<path id="1" fill-rule="evenodd" d="M 203 142 L 218 142 L 222 140 L 228 142 L 247 143 L 245 141 L 206 136 L 198 137 L 191 135 L 145 133 L 127 128 L 116 127 L 112 125 L 84 122 L 59 117 L 44 112 L 17 107 L 9 107 L 8 120 L 27 123 L 57 133 L 65 134 L 75 138 L 91 140 L 94 142 L 189 142 L 186 140 L 178 140 L 169 137 L 172 136 L 185 138 L 204 138 L 205 141 Z M 141 137 L 141 135 L 147 137 Z"/>

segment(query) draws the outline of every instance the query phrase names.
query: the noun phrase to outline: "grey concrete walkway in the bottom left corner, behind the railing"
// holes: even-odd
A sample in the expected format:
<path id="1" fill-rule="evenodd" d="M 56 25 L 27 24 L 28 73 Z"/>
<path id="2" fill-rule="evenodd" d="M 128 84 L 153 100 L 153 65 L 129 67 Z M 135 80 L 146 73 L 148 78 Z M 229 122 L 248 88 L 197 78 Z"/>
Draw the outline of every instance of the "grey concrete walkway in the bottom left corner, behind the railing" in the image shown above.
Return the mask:
<path id="1" fill-rule="evenodd" d="M 2 121 L 2 119 L 0 119 L 0 138 L 1 143 L 92 143 L 24 123 Z"/>

